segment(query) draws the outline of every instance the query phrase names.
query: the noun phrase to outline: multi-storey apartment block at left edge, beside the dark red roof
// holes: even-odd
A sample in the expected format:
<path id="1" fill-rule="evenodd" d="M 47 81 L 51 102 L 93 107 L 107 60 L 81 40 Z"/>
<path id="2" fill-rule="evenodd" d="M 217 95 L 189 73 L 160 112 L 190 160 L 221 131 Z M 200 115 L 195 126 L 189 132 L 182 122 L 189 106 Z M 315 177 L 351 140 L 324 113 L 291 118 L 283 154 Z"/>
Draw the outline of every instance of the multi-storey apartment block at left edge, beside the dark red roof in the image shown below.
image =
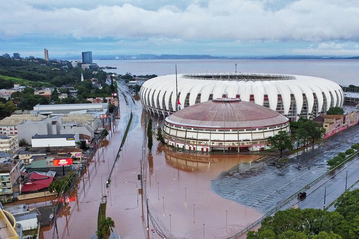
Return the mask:
<path id="1" fill-rule="evenodd" d="M 22 161 L 2 158 L 0 160 L 0 196 L 13 194 L 13 186 L 18 182 Z"/>

